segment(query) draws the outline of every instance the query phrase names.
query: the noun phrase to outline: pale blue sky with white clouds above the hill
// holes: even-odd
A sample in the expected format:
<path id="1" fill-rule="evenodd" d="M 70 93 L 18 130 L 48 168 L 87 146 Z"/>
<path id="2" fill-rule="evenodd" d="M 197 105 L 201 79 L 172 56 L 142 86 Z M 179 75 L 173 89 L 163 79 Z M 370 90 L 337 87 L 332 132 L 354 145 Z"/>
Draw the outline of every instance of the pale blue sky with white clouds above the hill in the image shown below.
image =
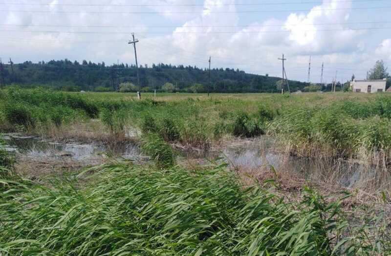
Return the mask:
<path id="1" fill-rule="evenodd" d="M 311 82 L 391 67 L 390 0 L 6 0 L 3 62 L 83 60 L 234 68 Z M 337 73 L 336 73 L 337 72 Z"/>

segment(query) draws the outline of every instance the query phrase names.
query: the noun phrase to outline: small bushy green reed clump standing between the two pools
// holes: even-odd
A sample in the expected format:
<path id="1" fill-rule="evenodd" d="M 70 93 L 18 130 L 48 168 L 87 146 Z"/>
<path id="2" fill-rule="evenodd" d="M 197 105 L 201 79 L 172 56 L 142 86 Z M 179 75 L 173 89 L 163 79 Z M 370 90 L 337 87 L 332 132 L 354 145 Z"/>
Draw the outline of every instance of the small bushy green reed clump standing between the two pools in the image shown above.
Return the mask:
<path id="1" fill-rule="evenodd" d="M 175 163 L 171 146 L 157 134 L 143 135 L 141 150 L 151 156 L 159 168 L 169 168 Z"/>

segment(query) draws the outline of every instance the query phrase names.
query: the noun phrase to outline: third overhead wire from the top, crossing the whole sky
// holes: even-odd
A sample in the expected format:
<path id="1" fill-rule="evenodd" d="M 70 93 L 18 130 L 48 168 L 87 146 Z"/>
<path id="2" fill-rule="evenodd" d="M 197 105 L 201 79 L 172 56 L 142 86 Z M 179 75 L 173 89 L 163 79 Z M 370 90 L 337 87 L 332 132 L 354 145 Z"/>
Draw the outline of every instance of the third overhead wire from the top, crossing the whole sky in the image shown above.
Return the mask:
<path id="1" fill-rule="evenodd" d="M 289 24 L 289 26 L 318 26 L 318 25 L 351 25 L 351 24 L 383 24 L 383 23 L 391 23 L 391 21 L 382 21 L 382 22 L 347 22 L 347 23 L 313 23 L 313 24 Z M 64 25 L 64 24 L 0 24 L 0 26 L 22 26 L 22 27 L 30 27 L 30 26 L 42 26 L 42 27 L 98 27 L 98 28 L 177 28 L 177 27 L 280 27 L 285 24 L 262 24 L 262 25 L 186 25 L 182 24 L 176 26 L 124 26 L 124 25 Z"/>

